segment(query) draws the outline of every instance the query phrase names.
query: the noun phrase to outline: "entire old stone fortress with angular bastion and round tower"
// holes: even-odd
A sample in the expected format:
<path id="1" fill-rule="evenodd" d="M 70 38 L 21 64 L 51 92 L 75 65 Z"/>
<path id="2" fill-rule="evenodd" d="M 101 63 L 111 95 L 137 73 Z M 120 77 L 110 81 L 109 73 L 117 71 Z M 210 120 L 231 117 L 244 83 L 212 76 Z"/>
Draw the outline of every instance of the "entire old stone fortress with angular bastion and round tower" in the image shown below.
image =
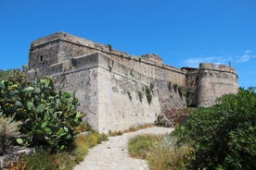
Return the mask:
<path id="1" fill-rule="evenodd" d="M 171 67 L 158 55 L 129 55 L 65 32 L 31 44 L 28 78 L 45 76 L 75 92 L 85 120 L 104 133 L 153 123 L 173 108 L 210 106 L 238 88 L 229 66 Z"/>

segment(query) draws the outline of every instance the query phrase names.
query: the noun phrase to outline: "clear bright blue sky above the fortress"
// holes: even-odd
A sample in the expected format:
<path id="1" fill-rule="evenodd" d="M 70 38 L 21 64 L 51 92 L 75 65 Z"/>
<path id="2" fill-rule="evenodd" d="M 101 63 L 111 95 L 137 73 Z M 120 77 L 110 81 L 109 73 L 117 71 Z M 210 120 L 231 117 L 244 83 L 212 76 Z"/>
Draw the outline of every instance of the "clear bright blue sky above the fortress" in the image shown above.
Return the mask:
<path id="1" fill-rule="evenodd" d="M 27 65 L 32 41 L 66 31 L 173 67 L 236 67 L 256 87 L 255 0 L 0 0 L 0 69 Z"/>

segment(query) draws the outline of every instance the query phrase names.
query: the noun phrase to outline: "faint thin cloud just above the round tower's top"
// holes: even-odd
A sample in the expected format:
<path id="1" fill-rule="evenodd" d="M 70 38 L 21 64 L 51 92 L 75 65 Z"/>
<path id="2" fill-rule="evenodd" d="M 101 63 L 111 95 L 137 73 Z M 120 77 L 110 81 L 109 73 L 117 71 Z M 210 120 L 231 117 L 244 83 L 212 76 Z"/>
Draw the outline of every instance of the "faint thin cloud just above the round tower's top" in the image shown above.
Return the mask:
<path id="1" fill-rule="evenodd" d="M 228 59 L 222 56 L 207 56 L 198 58 L 189 58 L 186 60 L 187 67 L 198 67 L 199 63 L 215 63 L 216 65 L 224 65 L 228 63 Z"/>

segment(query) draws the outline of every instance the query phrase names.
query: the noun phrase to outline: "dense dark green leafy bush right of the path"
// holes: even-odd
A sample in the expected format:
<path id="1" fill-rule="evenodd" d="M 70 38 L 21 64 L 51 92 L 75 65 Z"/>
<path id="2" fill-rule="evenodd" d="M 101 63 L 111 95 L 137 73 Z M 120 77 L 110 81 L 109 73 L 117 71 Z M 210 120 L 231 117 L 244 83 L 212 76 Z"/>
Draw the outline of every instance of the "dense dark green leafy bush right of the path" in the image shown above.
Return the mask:
<path id="1" fill-rule="evenodd" d="M 224 95 L 190 115 L 173 135 L 195 148 L 192 169 L 256 169 L 255 88 Z"/>

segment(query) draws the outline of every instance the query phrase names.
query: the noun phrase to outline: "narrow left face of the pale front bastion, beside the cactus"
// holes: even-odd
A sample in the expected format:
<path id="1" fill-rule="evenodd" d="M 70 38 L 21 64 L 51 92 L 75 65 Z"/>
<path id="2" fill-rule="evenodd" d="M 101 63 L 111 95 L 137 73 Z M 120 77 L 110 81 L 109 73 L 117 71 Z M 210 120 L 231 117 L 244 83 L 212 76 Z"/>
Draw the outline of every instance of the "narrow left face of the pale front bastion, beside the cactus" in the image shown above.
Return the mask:
<path id="1" fill-rule="evenodd" d="M 98 128 L 98 67 L 73 69 L 65 73 L 51 75 L 56 87 L 61 91 L 75 92 L 79 99 L 79 110 L 86 114 L 86 121 Z"/>

